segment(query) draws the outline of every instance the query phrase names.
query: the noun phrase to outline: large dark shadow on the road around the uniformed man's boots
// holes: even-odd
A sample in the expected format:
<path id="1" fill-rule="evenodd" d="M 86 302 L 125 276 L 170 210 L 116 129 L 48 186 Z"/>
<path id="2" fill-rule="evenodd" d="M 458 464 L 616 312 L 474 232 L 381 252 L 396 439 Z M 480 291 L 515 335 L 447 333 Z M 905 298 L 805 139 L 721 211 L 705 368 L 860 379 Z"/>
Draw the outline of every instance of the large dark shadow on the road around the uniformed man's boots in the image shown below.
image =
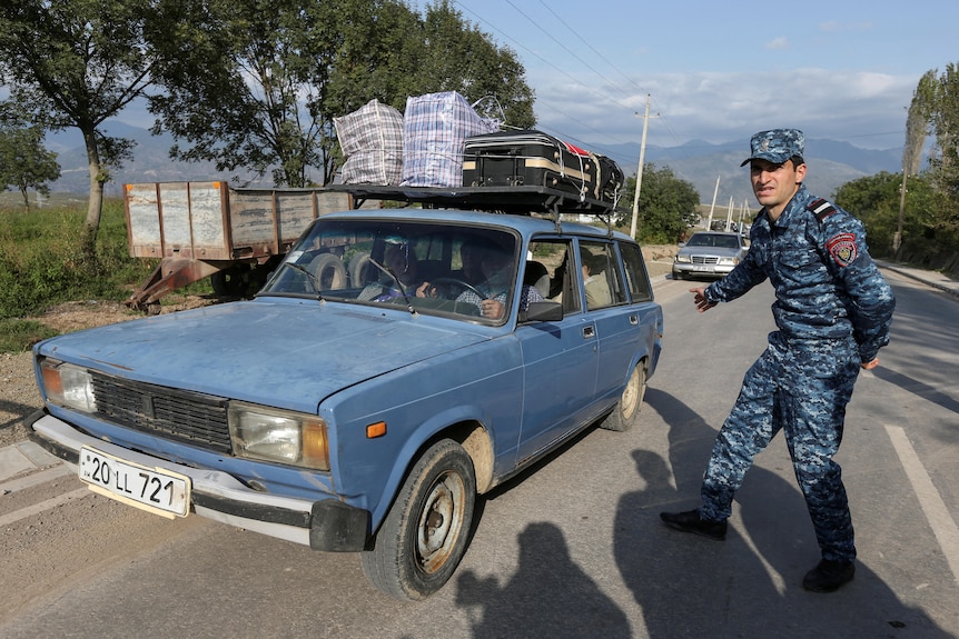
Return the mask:
<path id="1" fill-rule="evenodd" d="M 670 427 L 670 459 L 633 452 L 639 488 L 620 501 L 614 547 L 649 637 L 951 637 L 861 561 L 839 592 L 803 590 L 819 560 L 805 505 L 794 482 L 760 466 L 736 496 L 725 541 L 662 526 L 661 510 L 699 503 L 715 430 L 666 392 L 650 389 L 645 399 Z"/>

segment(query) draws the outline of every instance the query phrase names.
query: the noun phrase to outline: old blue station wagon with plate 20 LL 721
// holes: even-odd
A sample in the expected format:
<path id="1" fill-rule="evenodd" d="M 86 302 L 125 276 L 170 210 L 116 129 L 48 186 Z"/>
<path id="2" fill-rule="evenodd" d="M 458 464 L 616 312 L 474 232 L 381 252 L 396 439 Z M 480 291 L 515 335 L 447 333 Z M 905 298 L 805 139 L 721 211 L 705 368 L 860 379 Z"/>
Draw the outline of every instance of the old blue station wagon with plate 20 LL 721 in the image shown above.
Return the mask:
<path id="1" fill-rule="evenodd" d="M 37 345 L 31 437 L 108 497 L 360 552 L 373 585 L 422 599 L 478 495 L 586 427 L 634 425 L 662 333 L 625 234 L 349 210 L 251 300 Z"/>

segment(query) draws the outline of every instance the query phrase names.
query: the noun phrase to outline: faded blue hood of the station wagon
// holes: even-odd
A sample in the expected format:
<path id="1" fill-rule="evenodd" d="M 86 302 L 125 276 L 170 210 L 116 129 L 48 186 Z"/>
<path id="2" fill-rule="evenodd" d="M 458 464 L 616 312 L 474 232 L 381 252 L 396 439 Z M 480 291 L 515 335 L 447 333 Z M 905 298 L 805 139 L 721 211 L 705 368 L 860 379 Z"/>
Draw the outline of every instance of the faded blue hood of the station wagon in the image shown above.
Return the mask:
<path id="1" fill-rule="evenodd" d="M 365 379 L 488 339 L 456 322 L 313 300 L 235 302 L 121 322 L 38 345 L 120 377 L 315 412 Z"/>

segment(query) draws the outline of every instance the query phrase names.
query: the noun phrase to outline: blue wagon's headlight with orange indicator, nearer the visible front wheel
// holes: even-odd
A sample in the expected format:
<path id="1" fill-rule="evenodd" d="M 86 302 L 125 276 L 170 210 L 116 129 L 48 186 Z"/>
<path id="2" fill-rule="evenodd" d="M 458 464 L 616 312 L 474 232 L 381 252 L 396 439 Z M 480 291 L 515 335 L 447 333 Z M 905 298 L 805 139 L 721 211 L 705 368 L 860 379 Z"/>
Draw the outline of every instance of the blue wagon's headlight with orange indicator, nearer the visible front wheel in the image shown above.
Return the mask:
<path id="1" fill-rule="evenodd" d="M 315 415 L 240 401 L 228 410 L 237 457 L 329 470 L 326 422 Z"/>

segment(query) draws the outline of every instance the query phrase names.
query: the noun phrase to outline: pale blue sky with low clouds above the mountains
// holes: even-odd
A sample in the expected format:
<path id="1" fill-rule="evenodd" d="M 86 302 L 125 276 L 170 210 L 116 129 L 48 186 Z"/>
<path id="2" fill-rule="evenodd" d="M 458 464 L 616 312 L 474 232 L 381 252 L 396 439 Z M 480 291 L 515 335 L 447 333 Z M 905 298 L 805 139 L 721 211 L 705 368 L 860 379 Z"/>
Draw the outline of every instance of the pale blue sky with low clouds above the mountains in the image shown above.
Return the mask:
<path id="1" fill-rule="evenodd" d="M 959 63 L 955 0 L 452 3 L 517 53 L 537 127 L 600 151 L 640 141 L 646 94 L 647 144 L 797 127 L 898 148 L 919 78 Z"/>

